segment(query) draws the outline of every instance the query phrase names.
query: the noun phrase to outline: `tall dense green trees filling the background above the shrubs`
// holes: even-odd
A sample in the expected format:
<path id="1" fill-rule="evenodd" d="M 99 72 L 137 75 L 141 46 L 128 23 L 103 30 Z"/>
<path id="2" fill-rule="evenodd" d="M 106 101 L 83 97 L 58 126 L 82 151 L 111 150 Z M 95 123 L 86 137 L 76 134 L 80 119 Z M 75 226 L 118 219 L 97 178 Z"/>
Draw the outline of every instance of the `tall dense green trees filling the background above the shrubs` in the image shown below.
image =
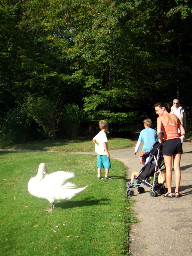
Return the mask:
<path id="1" fill-rule="evenodd" d="M 136 118 L 156 120 L 154 103 L 174 98 L 186 110 L 188 130 L 192 128 L 192 1 L 0 3 L 3 126 L 12 108 L 29 114 L 30 95 L 46 97 L 58 114 L 50 131 L 50 124 L 42 125 L 49 108 L 41 120 L 31 112 L 48 138 L 66 136 L 62 111 L 68 103 L 83 109 L 85 134 L 97 128 L 99 119 L 107 119 L 112 135 L 127 136 Z"/>

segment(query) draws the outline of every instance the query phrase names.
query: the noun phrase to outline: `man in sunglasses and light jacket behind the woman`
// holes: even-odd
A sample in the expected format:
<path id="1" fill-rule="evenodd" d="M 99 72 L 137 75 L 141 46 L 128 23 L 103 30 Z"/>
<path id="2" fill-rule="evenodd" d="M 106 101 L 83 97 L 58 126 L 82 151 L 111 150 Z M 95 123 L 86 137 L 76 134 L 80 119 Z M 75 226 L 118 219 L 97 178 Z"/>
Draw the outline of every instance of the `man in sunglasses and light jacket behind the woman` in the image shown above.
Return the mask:
<path id="1" fill-rule="evenodd" d="M 170 113 L 176 115 L 179 118 L 181 124 L 183 125 L 184 129 L 186 130 L 185 111 L 181 106 L 179 106 L 179 100 L 178 99 L 173 100 L 173 106 L 171 107 L 171 112 Z M 180 137 L 180 140 L 181 140 L 182 144 L 183 144 L 184 136 L 185 135 L 182 135 Z"/>

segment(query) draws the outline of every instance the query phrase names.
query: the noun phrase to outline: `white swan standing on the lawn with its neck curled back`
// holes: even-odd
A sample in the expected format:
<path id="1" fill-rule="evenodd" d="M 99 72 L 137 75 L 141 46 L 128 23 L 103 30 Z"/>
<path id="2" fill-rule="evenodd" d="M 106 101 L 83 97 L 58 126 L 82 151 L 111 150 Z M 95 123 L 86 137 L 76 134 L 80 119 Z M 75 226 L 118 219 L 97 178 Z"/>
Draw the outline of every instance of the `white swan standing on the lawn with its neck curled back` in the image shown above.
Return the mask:
<path id="1" fill-rule="evenodd" d="M 51 203 L 51 209 L 45 209 L 45 211 L 53 212 L 55 202 L 70 200 L 88 187 L 76 188 L 74 183 L 67 182 L 74 177 L 74 172 L 58 171 L 47 174 L 46 164 L 41 163 L 37 175 L 28 182 L 28 191 L 33 196 L 47 199 Z"/>

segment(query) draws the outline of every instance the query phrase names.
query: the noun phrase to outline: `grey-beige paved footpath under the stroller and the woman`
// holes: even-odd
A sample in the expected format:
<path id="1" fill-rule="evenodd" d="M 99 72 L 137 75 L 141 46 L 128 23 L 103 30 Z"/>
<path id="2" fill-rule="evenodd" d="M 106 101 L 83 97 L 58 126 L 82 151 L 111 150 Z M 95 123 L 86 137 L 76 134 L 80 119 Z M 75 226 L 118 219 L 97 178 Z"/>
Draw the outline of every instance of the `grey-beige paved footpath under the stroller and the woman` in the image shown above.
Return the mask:
<path id="1" fill-rule="evenodd" d="M 141 146 L 140 146 L 141 148 Z M 85 152 L 84 152 L 85 153 Z M 90 152 L 94 154 L 94 152 Z M 90 154 L 89 153 L 89 154 Z M 140 171 L 139 152 L 134 155 L 134 147 L 109 150 L 112 158 L 127 166 L 127 179 L 131 173 Z M 181 156 L 180 198 L 150 196 L 151 189 L 144 186 L 145 193 L 135 195 L 135 215 L 140 221 L 130 229 L 130 248 L 132 256 L 191 256 L 192 255 L 192 143 L 183 143 Z M 174 172 L 172 172 L 172 191 L 174 191 Z M 165 184 L 166 186 L 166 184 Z M 133 188 L 134 189 L 134 188 Z"/>

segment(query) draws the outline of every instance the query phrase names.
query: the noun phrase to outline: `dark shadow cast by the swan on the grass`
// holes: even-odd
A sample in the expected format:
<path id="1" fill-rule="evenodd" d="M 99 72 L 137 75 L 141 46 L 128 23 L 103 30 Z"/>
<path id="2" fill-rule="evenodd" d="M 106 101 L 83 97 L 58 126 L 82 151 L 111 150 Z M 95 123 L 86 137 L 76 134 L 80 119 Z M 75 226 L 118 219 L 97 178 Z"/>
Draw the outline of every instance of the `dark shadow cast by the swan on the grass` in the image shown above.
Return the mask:
<path id="1" fill-rule="evenodd" d="M 83 206 L 91 206 L 97 204 L 106 204 L 109 199 L 102 198 L 98 200 L 89 200 L 88 198 L 83 201 L 67 201 L 63 203 L 55 204 L 55 207 L 60 207 L 62 209 L 74 208 L 74 207 L 83 207 Z"/>

